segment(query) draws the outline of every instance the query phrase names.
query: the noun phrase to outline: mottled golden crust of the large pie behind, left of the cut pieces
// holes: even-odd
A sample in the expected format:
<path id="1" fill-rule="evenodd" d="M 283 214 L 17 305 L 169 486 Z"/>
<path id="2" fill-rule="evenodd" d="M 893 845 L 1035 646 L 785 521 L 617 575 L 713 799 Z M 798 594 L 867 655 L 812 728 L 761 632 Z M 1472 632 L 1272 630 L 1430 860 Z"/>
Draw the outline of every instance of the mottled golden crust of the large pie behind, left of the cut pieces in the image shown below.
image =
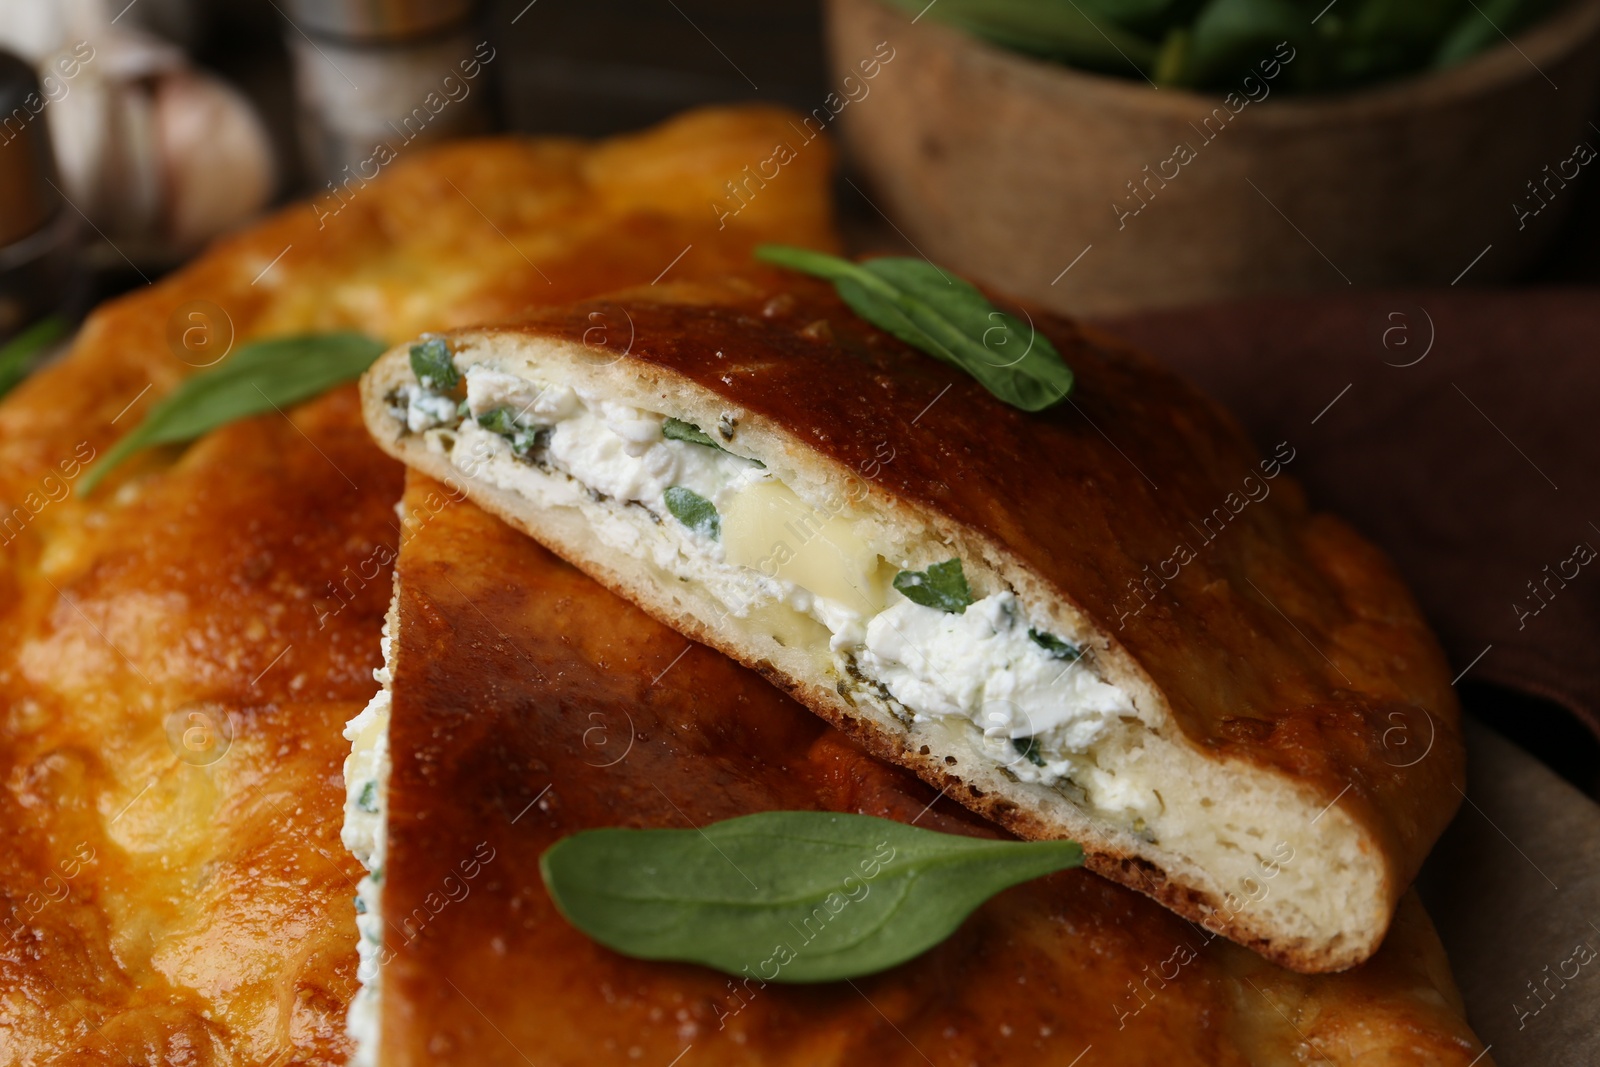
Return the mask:
<path id="1" fill-rule="evenodd" d="M 331 218 L 293 205 L 101 307 L 0 403 L 0 1061 L 350 1049 L 360 867 L 339 845 L 341 726 L 381 662 L 402 469 L 344 389 L 70 496 L 194 373 L 168 346 L 174 312 L 210 301 L 237 342 L 398 339 L 645 283 L 691 243 L 669 277 L 758 240 L 829 246 L 821 141 L 726 230 L 709 208 L 787 128 L 786 112 L 715 109 L 592 147 L 419 152 Z M 190 701 L 237 728 L 208 768 L 168 741 Z"/>

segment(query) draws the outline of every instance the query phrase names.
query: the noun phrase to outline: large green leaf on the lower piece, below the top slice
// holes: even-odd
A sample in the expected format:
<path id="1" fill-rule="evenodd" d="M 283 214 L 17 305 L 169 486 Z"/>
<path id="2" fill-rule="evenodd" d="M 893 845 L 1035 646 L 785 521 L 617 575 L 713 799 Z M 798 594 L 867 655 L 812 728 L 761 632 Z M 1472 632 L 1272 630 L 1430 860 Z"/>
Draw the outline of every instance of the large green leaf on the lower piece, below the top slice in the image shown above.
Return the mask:
<path id="1" fill-rule="evenodd" d="M 573 926 L 624 955 L 830 982 L 904 963 L 995 893 L 1082 862 L 1074 841 L 765 811 L 699 830 L 586 830 L 546 849 L 539 873 Z"/>

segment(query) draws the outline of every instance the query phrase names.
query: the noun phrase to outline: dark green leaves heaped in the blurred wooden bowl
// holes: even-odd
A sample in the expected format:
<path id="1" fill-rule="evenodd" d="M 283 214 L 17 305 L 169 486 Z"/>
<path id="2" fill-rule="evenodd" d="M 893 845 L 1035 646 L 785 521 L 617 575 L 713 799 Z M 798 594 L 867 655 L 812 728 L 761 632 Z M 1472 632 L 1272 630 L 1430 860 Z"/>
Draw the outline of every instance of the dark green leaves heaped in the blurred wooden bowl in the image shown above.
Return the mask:
<path id="1" fill-rule="evenodd" d="M 1440 70 L 1562 0 L 890 0 L 992 45 L 1155 85 L 1237 90 L 1283 59 L 1277 88 L 1346 90 Z"/>

